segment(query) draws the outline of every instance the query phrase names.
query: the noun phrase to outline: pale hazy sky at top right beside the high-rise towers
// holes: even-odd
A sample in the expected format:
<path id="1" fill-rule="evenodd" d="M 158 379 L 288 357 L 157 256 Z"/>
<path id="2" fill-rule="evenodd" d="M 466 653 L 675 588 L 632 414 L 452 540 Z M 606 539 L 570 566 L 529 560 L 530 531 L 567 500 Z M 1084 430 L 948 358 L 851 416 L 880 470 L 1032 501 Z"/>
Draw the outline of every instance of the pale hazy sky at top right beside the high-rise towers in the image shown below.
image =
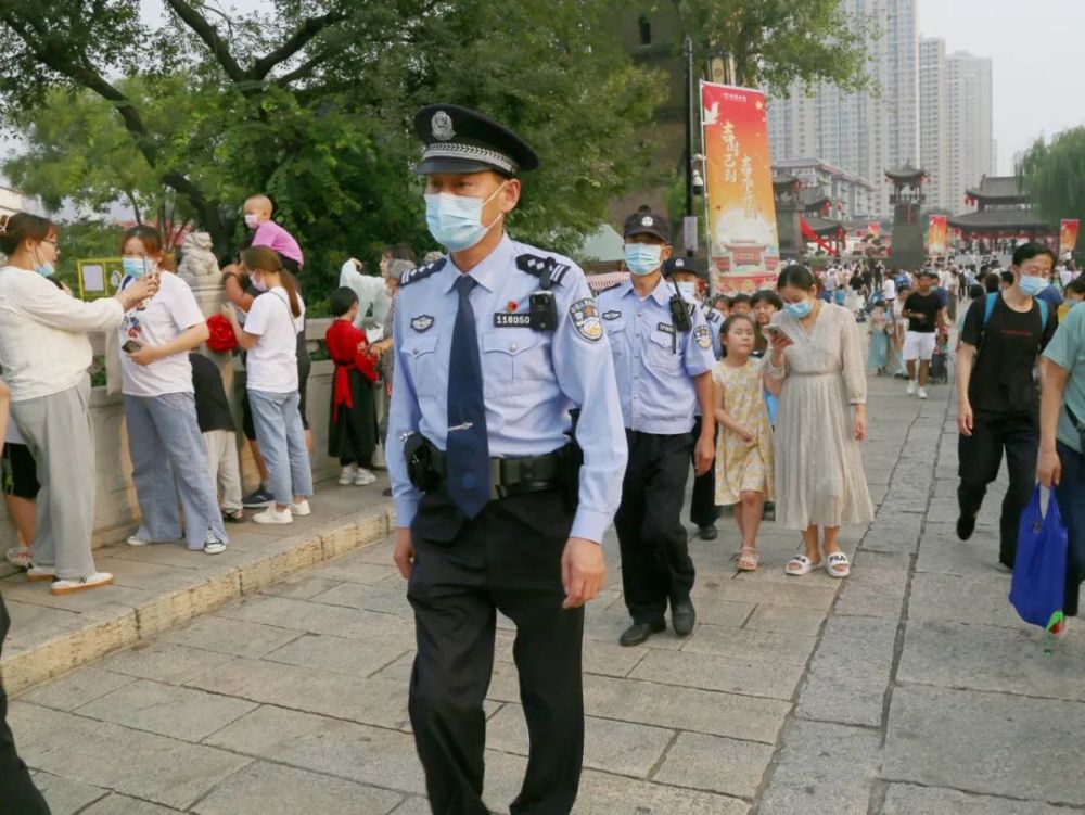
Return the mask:
<path id="1" fill-rule="evenodd" d="M 921 37 L 990 56 L 998 173 L 1041 135 L 1085 125 L 1085 0 L 919 0 Z"/>

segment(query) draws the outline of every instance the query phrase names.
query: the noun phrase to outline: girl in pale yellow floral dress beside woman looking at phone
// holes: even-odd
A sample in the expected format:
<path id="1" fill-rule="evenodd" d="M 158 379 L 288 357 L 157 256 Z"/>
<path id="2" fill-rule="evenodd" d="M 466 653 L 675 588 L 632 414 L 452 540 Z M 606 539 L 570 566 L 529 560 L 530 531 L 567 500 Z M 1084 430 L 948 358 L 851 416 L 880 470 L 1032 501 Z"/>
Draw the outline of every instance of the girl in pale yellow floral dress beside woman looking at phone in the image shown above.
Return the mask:
<path id="1" fill-rule="evenodd" d="M 742 547 L 739 571 L 757 568 L 757 530 L 765 499 L 773 499 L 773 428 L 762 395 L 762 366 L 754 359 L 754 326 L 735 315 L 720 329 L 727 354 L 712 378 L 716 423 L 723 437 L 716 447 L 716 504 L 735 506 Z"/>

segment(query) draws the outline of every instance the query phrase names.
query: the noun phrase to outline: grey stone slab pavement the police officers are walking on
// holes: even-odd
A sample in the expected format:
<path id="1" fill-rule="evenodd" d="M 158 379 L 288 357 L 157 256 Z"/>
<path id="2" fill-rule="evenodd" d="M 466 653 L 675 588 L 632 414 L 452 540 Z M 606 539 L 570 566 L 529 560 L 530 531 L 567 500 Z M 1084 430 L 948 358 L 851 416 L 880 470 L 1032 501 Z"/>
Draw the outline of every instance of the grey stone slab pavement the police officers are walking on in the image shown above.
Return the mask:
<path id="1" fill-rule="evenodd" d="M 953 534 L 948 386 L 871 379 L 878 506 L 854 574 L 788 577 L 796 534 L 764 527 L 736 574 L 730 519 L 693 546 L 699 625 L 623 649 L 616 545 L 586 623 L 582 815 L 1085 811 L 1085 636 L 1045 657 L 995 568 L 998 500 Z M 999 489 L 995 488 L 996 498 Z M 487 799 L 508 812 L 526 735 L 503 625 Z M 12 704 L 58 815 L 423 815 L 407 717 L 413 639 L 391 543 L 269 585 Z"/>

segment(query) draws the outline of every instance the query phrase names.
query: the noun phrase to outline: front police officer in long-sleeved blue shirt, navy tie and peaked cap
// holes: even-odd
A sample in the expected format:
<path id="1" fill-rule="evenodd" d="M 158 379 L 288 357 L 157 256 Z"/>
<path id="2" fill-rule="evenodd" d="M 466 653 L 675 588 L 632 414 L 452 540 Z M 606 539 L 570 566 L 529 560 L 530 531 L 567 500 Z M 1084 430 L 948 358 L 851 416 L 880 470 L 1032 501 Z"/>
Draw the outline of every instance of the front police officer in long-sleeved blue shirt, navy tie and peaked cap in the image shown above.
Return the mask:
<path id="1" fill-rule="evenodd" d="M 497 612 L 516 625 L 529 751 L 514 815 L 569 813 L 584 748 L 584 603 L 626 442 L 584 272 L 510 239 L 519 136 L 455 105 L 414 118 L 426 224 L 449 254 L 400 279 L 388 473 L 414 609 L 410 720 L 434 813 L 484 815 L 483 701 Z"/>

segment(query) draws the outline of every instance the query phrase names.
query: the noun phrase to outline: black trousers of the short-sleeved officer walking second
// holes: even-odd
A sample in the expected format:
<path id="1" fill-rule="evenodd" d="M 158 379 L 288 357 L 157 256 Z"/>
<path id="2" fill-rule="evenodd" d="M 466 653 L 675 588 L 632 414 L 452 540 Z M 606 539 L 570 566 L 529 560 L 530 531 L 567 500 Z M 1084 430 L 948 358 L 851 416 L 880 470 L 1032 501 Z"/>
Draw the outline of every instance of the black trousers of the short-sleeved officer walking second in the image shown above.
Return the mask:
<path id="1" fill-rule="evenodd" d="M 661 623 L 672 606 L 689 598 L 694 569 L 686 546 L 689 433 L 655 435 L 626 430 L 629 462 L 614 527 L 622 551 L 622 587 L 635 623 Z"/>

